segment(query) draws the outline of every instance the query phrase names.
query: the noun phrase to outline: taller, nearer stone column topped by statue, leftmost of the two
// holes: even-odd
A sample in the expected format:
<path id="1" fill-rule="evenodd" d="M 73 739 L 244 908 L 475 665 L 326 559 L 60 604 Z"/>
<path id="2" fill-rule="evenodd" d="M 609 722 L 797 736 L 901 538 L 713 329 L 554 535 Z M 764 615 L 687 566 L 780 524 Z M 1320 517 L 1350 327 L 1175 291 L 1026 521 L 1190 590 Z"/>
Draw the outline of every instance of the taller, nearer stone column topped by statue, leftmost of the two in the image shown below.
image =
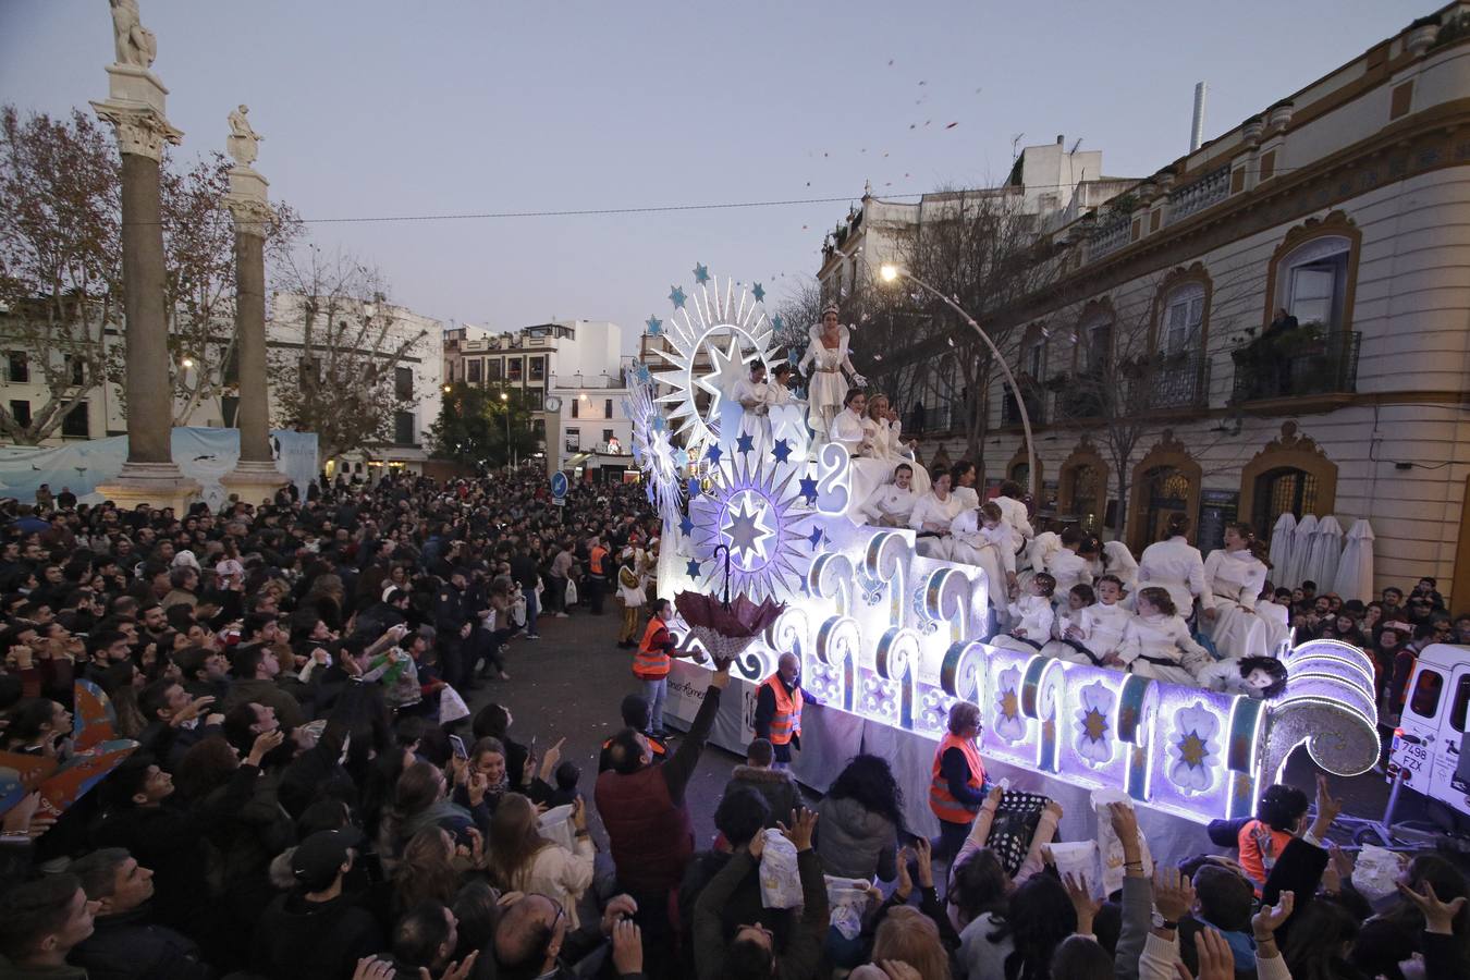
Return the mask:
<path id="1" fill-rule="evenodd" d="M 119 507 L 173 507 L 182 514 L 198 497 L 198 483 L 173 464 L 173 386 L 169 381 L 165 298 L 163 226 L 159 209 L 159 165 L 163 145 L 182 132 L 163 113 L 168 90 L 148 71 L 153 35 L 137 22 L 137 4 L 115 4 L 118 63 L 107 66 L 109 98 L 94 101 L 110 122 L 122 153 L 122 282 L 126 298 L 125 391 L 128 397 L 128 461 L 118 479 L 97 488 Z"/>

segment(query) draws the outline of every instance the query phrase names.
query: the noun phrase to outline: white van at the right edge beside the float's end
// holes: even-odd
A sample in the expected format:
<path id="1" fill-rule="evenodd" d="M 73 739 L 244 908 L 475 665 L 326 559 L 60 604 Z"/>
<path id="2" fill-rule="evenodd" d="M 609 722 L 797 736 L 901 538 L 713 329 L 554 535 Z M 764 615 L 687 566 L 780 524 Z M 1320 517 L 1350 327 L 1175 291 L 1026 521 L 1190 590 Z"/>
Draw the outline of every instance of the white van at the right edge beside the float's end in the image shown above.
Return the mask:
<path id="1" fill-rule="evenodd" d="M 1433 644 L 1414 663 L 1389 748 L 1388 776 L 1470 814 L 1470 646 Z"/>

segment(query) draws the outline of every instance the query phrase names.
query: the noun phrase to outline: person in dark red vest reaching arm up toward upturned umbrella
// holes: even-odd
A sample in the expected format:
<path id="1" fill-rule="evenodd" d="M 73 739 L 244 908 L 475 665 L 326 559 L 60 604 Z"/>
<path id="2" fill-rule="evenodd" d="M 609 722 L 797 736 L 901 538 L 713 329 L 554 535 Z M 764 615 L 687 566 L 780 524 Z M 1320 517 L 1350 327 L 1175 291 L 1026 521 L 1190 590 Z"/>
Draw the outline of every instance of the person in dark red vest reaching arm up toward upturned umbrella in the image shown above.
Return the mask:
<path id="1" fill-rule="evenodd" d="M 644 951 L 653 959 L 647 973 L 654 980 L 672 976 L 676 962 L 669 896 L 694 855 L 694 826 L 684 793 L 719 714 L 729 670 L 731 661 L 716 661 L 704 702 L 672 758 L 654 765 L 647 736 L 623 729 L 609 746 L 613 767 L 597 777 L 594 801 L 607 829 L 617 886 L 638 902 Z"/>

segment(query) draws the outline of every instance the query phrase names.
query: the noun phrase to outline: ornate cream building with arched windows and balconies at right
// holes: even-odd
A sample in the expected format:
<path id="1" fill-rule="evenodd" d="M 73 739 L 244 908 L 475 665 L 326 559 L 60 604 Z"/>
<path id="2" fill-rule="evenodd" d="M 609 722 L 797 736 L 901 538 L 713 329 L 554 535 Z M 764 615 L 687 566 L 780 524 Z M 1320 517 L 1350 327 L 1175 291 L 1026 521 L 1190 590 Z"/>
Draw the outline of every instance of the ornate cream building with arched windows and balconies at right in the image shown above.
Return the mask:
<path id="1" fill-rule="evenodd" d="M 1061 223 L 1060 278 L 1005 323 L 1039 510 L 1135 551 L 1176 511 L 1204 550 L 1230 520 L 1264 536 L 1286 511 L 1367 519 L 1376 588 L 1435 576 L 1470 602 L 1467 123 L 1458 3 L 1136 182 L 1126 207 Z M 1138 389 L 1127 417 L 1088 395 L 1100 379 Z M 997 379 L 986 403 L 985 475 L 1026 482 L 1016 400 Z M 923 447 L 963 451 L 953 430 Z"/>

